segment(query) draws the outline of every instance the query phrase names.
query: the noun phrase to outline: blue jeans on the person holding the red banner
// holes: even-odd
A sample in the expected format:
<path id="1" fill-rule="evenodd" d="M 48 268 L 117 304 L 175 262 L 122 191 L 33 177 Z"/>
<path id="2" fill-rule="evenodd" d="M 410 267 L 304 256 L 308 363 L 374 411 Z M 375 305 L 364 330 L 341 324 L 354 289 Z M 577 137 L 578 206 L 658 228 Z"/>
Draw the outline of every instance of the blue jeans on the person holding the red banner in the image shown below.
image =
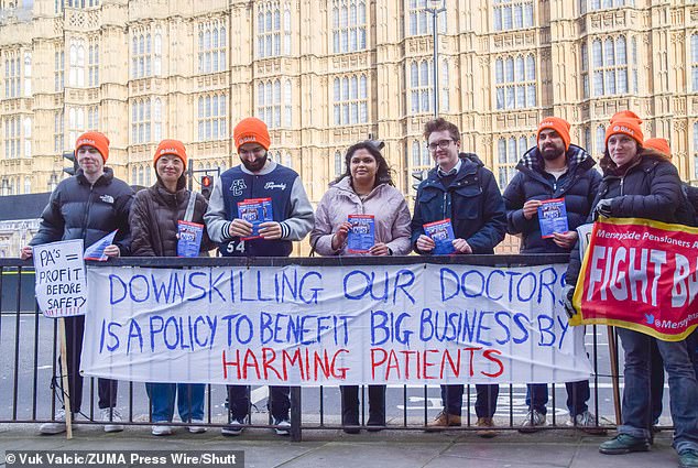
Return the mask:
<path id="1" fill-rule="evenodd" d="M 625 351 L 623 424 L 618 432 L 650 439 L 653 422 L 650 362 L 655 341 L 669 378 L 674 448 L 679 454 L 698 450 L 698 382 L 686 340 L 662 341 L 625 328 L 618 328 L 618 336 Z"/>

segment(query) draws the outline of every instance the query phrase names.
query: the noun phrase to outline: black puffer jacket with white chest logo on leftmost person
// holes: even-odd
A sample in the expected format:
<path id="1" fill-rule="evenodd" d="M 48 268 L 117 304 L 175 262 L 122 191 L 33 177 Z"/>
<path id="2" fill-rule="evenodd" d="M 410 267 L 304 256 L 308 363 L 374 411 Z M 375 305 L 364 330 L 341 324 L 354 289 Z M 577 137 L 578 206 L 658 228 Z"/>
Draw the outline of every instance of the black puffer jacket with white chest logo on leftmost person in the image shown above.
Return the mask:
<path id="1" fill-rule="evenodd" d="M 121 255 L 128 255 L 132 200 L 133 191 L 126 182 L 114 178 L 111 168 L 105 167 L 105 174 L 94 185 L 85 178 L 83 170 L 78 170 L 75 176 L 61 181 L 51 194 L 41 214 L 39 232 L 30 246 L 84 239 L 87 248 L 118 229 L 114 244 L 119 246 Z"/>

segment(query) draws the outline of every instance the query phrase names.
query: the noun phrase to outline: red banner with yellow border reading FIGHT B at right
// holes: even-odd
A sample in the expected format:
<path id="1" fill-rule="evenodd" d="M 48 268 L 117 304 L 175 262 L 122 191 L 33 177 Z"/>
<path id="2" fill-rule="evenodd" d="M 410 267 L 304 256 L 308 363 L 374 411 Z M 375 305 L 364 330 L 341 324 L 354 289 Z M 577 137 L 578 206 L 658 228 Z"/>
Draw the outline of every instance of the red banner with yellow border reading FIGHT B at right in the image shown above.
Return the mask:
<path id="1" fill-rule="evenodd" d="M 647 219 L 595 224 L 575 287 L 572 324 L 685 339 L 698 325 L 698 229 Z"/>

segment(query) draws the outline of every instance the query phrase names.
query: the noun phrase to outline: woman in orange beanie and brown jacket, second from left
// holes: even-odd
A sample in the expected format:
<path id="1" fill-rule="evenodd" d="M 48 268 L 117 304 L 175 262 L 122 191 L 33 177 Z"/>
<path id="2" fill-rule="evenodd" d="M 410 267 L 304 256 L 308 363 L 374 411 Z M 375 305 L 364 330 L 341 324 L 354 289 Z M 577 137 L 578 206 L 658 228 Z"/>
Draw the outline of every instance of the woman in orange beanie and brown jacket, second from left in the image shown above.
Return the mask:
<path id="1" fill-rule="evenodd" d="M 152 187 L 135 195 L 131 216 L 131 251 L 133 257 L 192 257 L 183 251 L 181 230 L 196 226 L 182 224 L 194 222 L 200 229 L 200 244 L 194 255 L 206 252 L 215 246 L 204 229 L 206 198 L 186 188 L 185 170 L 187 155 L 184 144 L 177 140 L 163 140 L 155 150 L 153 165 L 157 181 Z M 184 232 L 187 232 L 184 230 Z M 151 400 L 151 421 L 154 423 L 153 435 L 171 435 L 174 427 L 171 423 L 174 415 L 175 400 L 182 422 L 189 423 L 188 432 L 197 434 L 206 431 L 204 424 L 203 383 L 146 383 L 145 389 Z"/>

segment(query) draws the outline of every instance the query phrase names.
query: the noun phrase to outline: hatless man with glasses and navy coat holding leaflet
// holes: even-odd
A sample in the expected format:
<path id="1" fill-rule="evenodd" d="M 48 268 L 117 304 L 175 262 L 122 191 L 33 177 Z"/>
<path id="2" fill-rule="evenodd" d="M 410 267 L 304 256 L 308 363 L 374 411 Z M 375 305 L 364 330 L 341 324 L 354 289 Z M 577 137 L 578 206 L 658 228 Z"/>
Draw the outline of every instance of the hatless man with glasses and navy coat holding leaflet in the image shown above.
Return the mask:
<path id="1" fill-rule="evenodd" d="M 443 118 L 432 120 L 425 126 L 424 138 L 436 167 L 417 188 L 412 218 L 414 250 L 419 254 L 494 253 L 494 246 L 506 232 L 504 202 L 494 176 L 476 154 L 459 153 L 460 132 L 455 124 Z M 450 219 L 454 238 L 437 244 L 425 233 L 424 225 L 446 219 Z M 437 225 L 443 232 L 447 222 Z M 499 385 L 478 384 L 476 391 L 477 426 L 482 428 L 479 435 L 493 437 Z M 441 385 L 444 410 L 427 429 L 459 426 L 462 394 L 463 385 Z"/>

